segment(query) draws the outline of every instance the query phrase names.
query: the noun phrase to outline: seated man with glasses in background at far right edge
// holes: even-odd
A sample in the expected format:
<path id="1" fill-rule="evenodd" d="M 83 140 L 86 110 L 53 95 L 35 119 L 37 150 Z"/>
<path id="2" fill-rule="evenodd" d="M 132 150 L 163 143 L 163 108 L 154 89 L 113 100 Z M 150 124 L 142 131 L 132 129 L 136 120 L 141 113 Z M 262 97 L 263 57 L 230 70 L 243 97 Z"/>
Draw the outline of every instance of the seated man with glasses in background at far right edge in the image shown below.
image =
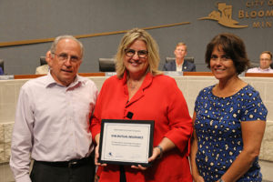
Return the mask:
<path id="1" fill-rule="evenodd" d="M 259 56 L 259 67 L 248 69 L 247 73 L 273 73 L 270 64 L 272 63 L 272 53 L 264 51 Z"/>

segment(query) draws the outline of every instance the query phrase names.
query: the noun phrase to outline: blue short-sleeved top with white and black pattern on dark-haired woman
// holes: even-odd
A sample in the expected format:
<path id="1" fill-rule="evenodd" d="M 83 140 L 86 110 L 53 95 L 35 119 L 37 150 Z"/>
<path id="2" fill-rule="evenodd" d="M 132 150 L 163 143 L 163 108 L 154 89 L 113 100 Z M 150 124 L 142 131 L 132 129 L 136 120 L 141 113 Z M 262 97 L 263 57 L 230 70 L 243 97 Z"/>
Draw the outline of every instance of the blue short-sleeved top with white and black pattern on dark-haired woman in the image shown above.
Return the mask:
<path id="1" fill-rule="evenodd" d="M 233 96 L 218 97 L 208 86 L 197 96 L 197 167 L 205 181 L 217 181 L 243 149 L 241 122 L 264 120 L 268 110 L 258 91 L 245 86 Z M 261 121 L 263 122 L 263 121 Z M 238 181 L 261 181 L 258 157 Z"/>

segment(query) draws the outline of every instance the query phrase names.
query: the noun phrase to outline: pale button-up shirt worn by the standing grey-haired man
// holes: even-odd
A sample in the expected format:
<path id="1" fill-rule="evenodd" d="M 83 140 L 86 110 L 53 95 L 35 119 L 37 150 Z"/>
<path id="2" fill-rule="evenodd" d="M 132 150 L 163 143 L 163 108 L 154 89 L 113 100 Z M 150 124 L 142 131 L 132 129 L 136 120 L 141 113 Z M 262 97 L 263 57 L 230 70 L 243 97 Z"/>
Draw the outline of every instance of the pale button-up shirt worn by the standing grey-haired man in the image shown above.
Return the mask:
<path id="1" fill-rule="evenodd" d="M 93 150 L 89 118 L 97 88 L 82 76 L 70 86 L 56 83 L 50 73 L 22 86 L 15 114 L 10 167 L 15 180 L 30 182 L 30 155 L 39 161 L 88 157 Z"/>

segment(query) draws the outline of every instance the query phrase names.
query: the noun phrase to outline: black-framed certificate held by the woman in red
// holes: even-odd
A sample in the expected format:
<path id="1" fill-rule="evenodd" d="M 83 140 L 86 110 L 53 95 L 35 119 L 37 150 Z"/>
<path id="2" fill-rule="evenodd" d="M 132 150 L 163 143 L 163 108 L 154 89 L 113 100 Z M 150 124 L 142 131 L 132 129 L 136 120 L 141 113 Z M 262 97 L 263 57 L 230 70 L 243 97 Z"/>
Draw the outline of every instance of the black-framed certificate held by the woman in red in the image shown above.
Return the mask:
<path id="1" fill-rule="evenodd" d="M 147 167 L 153 136 L 154 121 L 102 119 L 98 162 Z"/>

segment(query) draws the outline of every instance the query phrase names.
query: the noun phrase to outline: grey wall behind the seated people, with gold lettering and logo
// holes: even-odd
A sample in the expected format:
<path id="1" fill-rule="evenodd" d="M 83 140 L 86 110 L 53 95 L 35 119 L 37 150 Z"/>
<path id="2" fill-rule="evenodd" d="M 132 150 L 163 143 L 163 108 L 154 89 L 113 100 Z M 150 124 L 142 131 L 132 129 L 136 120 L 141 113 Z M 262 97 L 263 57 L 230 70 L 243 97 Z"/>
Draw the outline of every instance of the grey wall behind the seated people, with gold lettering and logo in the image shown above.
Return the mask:
<path id="1" fill-rule="evenodd" d="M 239 35 L 247 45 L 249 58 L 258 62 L 261 51 L 273 51 L 272 0 L 222 1 L 232 5 L 232 18 L 247 28 L 230 28 L 213 20 L 198 20 L 217 11 L 217 0 L 1 0 L 0 43 L 50 38 L 57 35 L 87 35 L 127 30 L 133 27 L 168 25 L 190 22 L 189 25 L 148 30 L 160 49 L 160 69 L 165 57 L 173 56 L 177 42 L 188 46 L 187 56 L 194 56 L 197 71 L 208 71 L 204 64 L 206 45 L 222 32 Z M 264 2 L 264 4 L 254 4 Z M 253 4 L 251 4 L 253 3 Z M 239 18 L 243 10 L 252 17 Z M 262 15 L 259 11 L 269 11 Z M 252 13 L 251 13 L 252 12 Z M 254 13 L 253 13 L 254 12 Z M 255 16 L 259 12 L 259 16 Z M 262 26 L 265 24 L 268 26 Z M 253 27 L 260 24 L 260 27 Z M 116 54 L 120 35 L 82 38 L 85 57 L 80 72 L 98 72 L 98 58 Z M 5 74 L 34 74 L 39 57 L 44 56 L 51 43 L 0 47 L 5 60 Z"/>

